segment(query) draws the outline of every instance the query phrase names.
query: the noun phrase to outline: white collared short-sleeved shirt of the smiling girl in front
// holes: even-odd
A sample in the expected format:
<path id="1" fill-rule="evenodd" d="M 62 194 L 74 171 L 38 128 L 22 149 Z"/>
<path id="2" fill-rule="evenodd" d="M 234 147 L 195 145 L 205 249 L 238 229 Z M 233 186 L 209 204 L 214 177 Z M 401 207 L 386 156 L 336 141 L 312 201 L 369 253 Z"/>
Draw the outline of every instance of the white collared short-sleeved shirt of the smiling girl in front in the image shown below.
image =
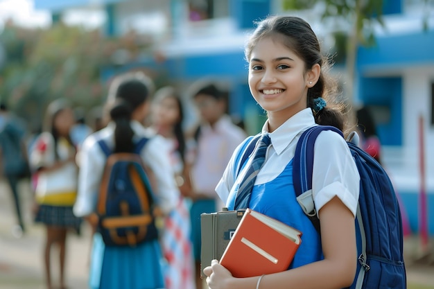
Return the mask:
<path id="1" fill-rule="evenodd" d="M 268 132 L 268 121 L 266 121 L 262 133 L 270 134 L 272 144 L 267 150 L 266 161 L 257 175 L 255 185 L 268 183 L 282 173 L 294 157 L 295 147 L 302 132 L 313 125 L 315 119 L 310 108 L 295 114 L 271 133 Z M 227 201 L 236 183 L 235 161 L 240 150 L 241 146 L 238 146 L 216 186 L 216 192 L 223 202 Z M 355 216 L 360 175 L 345 139 L 336 132 L 321 132 L 315 141 L 314 155 L 312 191 L 317 211 L 334 196 L 338 196 Z M 242 178 L 243 173 L 245 170 L 241 170 L 238 179 Z"/>

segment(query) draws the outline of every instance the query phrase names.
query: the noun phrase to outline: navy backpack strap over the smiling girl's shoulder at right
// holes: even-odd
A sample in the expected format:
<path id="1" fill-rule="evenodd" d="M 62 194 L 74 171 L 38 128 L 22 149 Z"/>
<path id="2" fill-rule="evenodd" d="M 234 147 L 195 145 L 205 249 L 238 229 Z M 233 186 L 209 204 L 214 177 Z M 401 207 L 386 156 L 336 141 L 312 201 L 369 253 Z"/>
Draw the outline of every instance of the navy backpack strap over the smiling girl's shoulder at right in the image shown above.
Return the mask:
<path id="1" fill-rule="evenodd" d="M 293 161 L 295 197 L 318 232 L 320 231 L 320 220 L 315 211 L 312 195 L 313 149 L 318 135 L 323 130 L 333 130 L 343 137 L 342 132 L 333 126 L 315 125 L 308 128 L 297 142 Z"/>

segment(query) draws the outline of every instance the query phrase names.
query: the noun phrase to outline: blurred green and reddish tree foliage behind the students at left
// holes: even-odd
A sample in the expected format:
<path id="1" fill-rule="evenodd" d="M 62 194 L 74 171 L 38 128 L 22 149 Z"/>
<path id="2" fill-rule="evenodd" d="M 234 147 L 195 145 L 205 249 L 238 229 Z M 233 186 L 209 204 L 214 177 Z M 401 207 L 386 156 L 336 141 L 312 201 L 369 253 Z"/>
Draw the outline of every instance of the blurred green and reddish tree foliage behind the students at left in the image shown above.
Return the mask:
<path id="1" fill-rule="evenodd" d="M 0 68 L 0 98 L 19 116 L 40 127 L 46 106 L 56 98 L 90 110 L 101 105 L 105 87 L 101 69 L 114 66 L 112 55 L 127 51 L 128 60 L 148 46 L 129 33 L 107 39 L 99 30 L 56 24 L 47 30 L 8 24 L 0 34 L 6 64 Z"/>

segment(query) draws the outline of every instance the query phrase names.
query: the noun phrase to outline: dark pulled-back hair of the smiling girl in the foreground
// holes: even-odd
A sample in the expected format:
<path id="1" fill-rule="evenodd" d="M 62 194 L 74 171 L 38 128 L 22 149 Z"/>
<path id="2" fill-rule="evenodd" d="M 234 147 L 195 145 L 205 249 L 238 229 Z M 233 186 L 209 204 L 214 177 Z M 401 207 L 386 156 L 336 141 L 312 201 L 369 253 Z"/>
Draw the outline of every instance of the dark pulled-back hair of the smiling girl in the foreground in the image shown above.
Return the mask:
<path id="1" fill-rule="evenodd" d="M 334 99 L 337 85 L 328 76 L 329 60 L 322 55 L 320 42 L 311 26 L 304 19 L 290 16 L 271 16 L 259 21 L 245 47 L 245 58 L 248 62 L 254 46 L 265 37 L 279 37 L 282 44 L 304 60 L 306 71 L 309 71 L 315 64 L 320 65 L 320 77 L 318 82 L 308 89 L 306 105 L 313 110 L 314 99 L 324 98 L 327 101 L 326 107 L 318 112 L 313 110 L 315 122 L 321 125 L 333 125 L 344 130 L 343 107 Z"/>

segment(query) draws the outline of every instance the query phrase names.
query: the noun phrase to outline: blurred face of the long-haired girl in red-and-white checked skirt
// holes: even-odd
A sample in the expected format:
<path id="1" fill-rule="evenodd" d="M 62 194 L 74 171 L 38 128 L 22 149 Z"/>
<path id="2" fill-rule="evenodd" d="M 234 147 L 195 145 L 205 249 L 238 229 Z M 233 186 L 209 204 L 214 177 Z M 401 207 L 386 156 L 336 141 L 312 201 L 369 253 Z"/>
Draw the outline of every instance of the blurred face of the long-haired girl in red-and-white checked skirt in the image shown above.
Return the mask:
<path id="1" fill-rule="evenodd" d="M 180 108 L 173 97 L 163 98 L 155 104 L 153 122 L 156 125 L 174 125 L 180 121 Z"/>

